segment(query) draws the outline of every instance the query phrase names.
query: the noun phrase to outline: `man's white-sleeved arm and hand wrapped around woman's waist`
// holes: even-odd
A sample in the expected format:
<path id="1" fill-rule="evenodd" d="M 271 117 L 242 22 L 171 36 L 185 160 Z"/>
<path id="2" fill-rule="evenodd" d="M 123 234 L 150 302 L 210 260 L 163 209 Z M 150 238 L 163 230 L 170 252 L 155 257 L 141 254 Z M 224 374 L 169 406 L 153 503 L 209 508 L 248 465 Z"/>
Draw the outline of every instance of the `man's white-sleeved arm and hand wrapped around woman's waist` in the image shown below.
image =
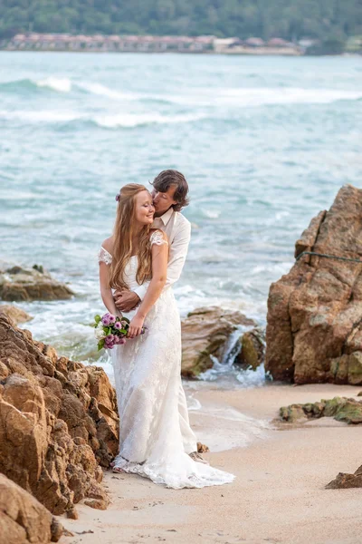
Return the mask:
<path id="1" fill-rule="evenodd" d="M 172 240 L 170 246 L 166 287 L 172 286 L 179 279 L 187 257 L 187 250 L 191 237 L 191 225 L 186 219 L 182 218 L 181 220 L 182 223 L 177 226 L 175 238 Z M 116 295 L 116 306 L 119 310 L 127 312 L 137 306 L 146 295 L 148 285 L 149 281 L 133 291 L 123 291 L 123 295 Z"/>

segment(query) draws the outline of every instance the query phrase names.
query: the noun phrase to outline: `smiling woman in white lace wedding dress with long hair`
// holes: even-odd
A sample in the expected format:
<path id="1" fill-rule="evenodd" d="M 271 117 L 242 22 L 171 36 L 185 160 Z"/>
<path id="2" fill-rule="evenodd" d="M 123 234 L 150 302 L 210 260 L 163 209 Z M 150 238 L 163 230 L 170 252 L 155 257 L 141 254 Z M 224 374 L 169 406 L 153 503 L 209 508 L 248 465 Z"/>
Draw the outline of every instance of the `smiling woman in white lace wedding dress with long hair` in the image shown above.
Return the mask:
<path id="1" fill-rule="evenodd" d="M 193 459 L 184 445 L 186 434 L 188 441 L 195 435 L 178 411 L 180 317 L 172 288 L 165 287 L 167 236 L 151 229 L 152 197 L 144 186 L 130 183 L 116 199 L 114 233 L 99 252 L 103 303 L 117 315 L 114 290 L 150 282 L 138 307 L 125 314 L 130 319 L 126 344 L 115 345 L 110 352 L 120 422 L 113 471 L 134 472 L 174 489 L 229 483 L 233 474 Z"/>

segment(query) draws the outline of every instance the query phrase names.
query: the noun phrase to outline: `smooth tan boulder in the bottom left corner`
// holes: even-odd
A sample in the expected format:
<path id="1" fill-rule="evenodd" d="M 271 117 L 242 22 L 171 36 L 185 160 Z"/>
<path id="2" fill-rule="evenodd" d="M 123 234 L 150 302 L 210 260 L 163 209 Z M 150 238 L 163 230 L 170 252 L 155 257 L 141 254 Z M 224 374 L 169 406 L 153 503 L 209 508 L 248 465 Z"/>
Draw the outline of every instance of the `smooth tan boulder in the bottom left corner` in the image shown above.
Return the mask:
<path id="1" fill-rule="evenodd" d="M 6 544 L 57 542 L 62 524 L 38 500 L 0 474 L 0 539 Z"/>

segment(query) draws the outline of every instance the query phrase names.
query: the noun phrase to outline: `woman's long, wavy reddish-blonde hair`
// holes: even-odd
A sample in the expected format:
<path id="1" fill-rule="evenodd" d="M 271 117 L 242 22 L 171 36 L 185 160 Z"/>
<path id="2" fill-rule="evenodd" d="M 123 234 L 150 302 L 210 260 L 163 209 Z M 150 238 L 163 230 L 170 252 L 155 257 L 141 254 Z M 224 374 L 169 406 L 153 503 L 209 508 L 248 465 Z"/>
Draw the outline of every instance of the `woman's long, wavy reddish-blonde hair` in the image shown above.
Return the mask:
<path id="1" fill-rule="evenodd" d="M 112 262 L 110 264 L 110 287 L 113 289 L 129 289 L 124 270 L 133 255 L 132 238 L 135 235 L 136 196 L 143 190 L 148 190 L 138 183 L 129 183 L 119 191 L 116 222 L 113 231 Z M 149 244 L 150 225 L 141 228 L 138 237 L 138 284 L 144 283 L 151 277 L 152 261 Z"/>

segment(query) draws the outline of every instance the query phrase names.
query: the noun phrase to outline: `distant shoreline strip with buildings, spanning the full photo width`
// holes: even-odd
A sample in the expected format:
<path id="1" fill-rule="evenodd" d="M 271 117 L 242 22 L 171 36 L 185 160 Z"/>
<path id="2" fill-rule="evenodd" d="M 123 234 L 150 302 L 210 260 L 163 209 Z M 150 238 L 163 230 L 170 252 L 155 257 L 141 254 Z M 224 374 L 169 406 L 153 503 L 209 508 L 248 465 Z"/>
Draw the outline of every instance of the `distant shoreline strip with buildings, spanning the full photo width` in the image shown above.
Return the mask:
<path id="1" fill-rule="evenodd" d="M 77 53 L 189 53 L 249 56 L 334 56 L 362 54 L 341 41 L 321 42 L 311 38 L 288 41 L 280 37 L 218 38 L 214 35 L 138 35 L 20 33 L 0 39 L 1 51 L 48 51 Z"/>

